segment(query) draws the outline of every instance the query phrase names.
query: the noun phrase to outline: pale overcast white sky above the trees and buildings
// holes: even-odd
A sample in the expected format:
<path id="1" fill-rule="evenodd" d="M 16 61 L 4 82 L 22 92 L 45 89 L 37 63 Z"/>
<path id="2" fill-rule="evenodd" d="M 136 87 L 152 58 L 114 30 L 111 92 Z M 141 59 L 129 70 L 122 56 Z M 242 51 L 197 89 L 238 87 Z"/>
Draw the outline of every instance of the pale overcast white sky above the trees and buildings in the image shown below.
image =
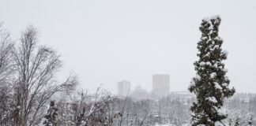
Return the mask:
<path id="1" fill-rule="evenodd" d="M 62 54 L 81 87 L 100 83 L 116 93 L 120 80 L 150 91 L 152 74 L 171 76 L 171 91 L 187 91 L 198 58 L 203 17 L 222 17 L 226 69 L 239 92 L 256 92 L 255 0 L 0 0 L 0 21 L 14 39 L 33 24 L 40 43 Z"/>

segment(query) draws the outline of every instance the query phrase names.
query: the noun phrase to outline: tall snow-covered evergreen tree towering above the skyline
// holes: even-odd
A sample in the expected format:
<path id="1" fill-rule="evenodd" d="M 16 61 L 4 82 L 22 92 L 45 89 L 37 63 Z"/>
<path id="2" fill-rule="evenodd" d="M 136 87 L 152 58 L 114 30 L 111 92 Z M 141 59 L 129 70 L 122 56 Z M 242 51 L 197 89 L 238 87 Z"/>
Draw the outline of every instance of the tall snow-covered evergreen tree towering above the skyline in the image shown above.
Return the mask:
<path id="1" fill-rule="evenodd" d="M 189 91 L 193 92 L 197 101 L 191 106 L 192 125 L 222 125 L 227 116 L 221 110 L 224 98 L 235 93 L 234 87 L 228 87 L 228 72 L 224 69 L 223 60 L 227 59 L 227 51 L 221 49 L 223 40 L 218 36 L 220 17 L 202 20 L 201 39 L 198 42 L 199 60 L 194 62 L 196 77 L 191 80 Z"/>

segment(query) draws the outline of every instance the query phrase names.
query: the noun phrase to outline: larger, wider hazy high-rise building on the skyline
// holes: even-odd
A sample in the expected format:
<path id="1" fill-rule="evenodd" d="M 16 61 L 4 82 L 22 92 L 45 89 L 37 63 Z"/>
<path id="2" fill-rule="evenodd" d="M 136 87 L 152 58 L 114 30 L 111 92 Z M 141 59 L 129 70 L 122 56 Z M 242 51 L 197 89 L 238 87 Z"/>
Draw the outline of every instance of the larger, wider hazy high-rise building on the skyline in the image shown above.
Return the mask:
<path id="1" fill-rule="evenodd" d="M 166 96 L 170 93 L 170 76 L 157 74 L 152 76 L 152 94 Z"/>

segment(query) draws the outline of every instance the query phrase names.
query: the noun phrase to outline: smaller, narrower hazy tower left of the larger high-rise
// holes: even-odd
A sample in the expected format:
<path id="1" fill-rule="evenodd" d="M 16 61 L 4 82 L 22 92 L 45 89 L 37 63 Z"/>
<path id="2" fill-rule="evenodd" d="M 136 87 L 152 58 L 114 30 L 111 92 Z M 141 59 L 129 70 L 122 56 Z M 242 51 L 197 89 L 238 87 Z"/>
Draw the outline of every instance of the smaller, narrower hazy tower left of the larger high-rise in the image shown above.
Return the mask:
<path id="1" fill-rule="evenodd" d="M 130 82 L 126 80 L 122 80 L 118 83 L 118 95 L 119 96 L 126 96 L 129 95 L 130 91 Z"/>

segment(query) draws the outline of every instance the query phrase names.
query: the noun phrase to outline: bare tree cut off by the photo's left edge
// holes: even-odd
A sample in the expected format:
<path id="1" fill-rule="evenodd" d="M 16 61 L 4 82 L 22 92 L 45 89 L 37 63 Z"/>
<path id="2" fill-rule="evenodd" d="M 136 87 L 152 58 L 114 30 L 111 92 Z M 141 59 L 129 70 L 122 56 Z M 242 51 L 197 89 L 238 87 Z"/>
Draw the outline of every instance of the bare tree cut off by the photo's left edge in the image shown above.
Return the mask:
<path id="1" fill-rule="evenodd" d="M 13 43 L 9 37 L 9 33 L 6 29 L 2 28 L 0 24 L 0 125 L 9 124 L 10 109 L 10 93 L 12 90 L 11 78 L 12 78 L 12 61 L 11 61 L 11 49 Z"/>

